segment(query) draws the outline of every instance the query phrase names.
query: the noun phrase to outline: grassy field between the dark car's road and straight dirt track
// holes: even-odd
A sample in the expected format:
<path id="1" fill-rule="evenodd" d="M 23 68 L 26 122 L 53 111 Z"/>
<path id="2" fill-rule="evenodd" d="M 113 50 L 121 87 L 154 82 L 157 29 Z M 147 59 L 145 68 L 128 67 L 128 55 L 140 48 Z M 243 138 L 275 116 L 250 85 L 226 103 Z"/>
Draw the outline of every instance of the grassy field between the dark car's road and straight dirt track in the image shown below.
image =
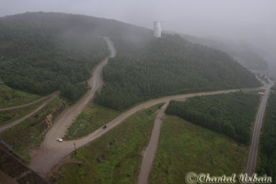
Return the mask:
<path id="1" fill-rule="evenodd" d="M 66 163 L 54 174 L 57 183 L 136 183 L 141 151 L 150 138 L 159 105 L 135 113 L 87 147 L 71 154 L 82 162 Z M 59 174 L 60 173 L 60 174 Z M 53 178 L 50 178 L 52 181 Z"/>

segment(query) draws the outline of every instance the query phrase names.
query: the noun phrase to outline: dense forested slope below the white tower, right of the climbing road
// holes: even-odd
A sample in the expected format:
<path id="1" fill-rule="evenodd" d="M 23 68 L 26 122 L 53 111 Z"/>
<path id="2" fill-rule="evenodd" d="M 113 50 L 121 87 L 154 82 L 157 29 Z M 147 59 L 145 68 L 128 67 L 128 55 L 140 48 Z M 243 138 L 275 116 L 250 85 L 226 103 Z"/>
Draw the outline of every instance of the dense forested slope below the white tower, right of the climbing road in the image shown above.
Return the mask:
<path id="1" fill-rule="evenodd" d="M 104 107 L 121 110 L 160 95 L 260 85 L 225 53 L 177 35 L 112 40 L 117 56 L 103 68 L 105 84 L 96 98 Z"/>

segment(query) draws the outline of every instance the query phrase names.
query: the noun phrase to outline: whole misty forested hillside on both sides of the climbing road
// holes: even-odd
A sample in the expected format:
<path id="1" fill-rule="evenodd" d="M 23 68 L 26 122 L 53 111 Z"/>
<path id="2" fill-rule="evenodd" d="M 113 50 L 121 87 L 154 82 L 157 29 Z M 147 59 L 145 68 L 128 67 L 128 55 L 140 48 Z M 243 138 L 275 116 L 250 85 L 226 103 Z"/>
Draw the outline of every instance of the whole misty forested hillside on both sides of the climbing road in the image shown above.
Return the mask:
<path id="1" fill-rule="evenodd" d="M 117 57 L 103 70 L 97 102 L 124 109 L 175 93 L 259 86 L 254 75 L 219 50 L 115 20 L 53 12 L 0 18 L 0 77 L 14 89 L 77 100 L 92 68 L 108 55 L 100 36 L 115 42 Z"/>

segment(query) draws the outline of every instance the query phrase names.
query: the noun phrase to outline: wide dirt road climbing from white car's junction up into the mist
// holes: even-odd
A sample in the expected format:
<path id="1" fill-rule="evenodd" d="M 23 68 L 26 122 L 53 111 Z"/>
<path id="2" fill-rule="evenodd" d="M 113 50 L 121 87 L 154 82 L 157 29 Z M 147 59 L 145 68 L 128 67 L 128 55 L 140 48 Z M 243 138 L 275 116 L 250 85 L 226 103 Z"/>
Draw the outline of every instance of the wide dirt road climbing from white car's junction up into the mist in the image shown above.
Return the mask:
<path id="1" fill-rule="evenodd" d="M 103 38 L 108 44 L 110 57 L 115 57 L 116 50 L 113 43 L 108 37 Z M 72 145 L 69 146 L 68 142 L 67 144 L 63 144 L 65 142 L 57 142 L 56 138 L 62 138 L 64 134 L 66 134 L 68 127 L 74 122 L 75 118 L 79 116 L 79 113 L 85 109 L 86 104 L 93 98 L 97 89 L 101 87 L 101 71 L 103 66 L 107 63 L 108 57 L 97 65 L 92 77 L 88 80 L 88 85 L 91 87 L 90 91 L 86 93 L 86 95 L 83 95 L 83 97 L 71 108 L 61 113 L 61 116 L 59 116 L 55 124 L 46 134 L 41 143 L 41 147 L 30 151 L 32 157 L 30 167 L 34 169 L 34 171 L 39 172 L 41 176 L 45 176 L 46 171 L 49 171 L 61 158 L 72 151 Z M 53 146 L 54 149 L 52 149 Z"/>

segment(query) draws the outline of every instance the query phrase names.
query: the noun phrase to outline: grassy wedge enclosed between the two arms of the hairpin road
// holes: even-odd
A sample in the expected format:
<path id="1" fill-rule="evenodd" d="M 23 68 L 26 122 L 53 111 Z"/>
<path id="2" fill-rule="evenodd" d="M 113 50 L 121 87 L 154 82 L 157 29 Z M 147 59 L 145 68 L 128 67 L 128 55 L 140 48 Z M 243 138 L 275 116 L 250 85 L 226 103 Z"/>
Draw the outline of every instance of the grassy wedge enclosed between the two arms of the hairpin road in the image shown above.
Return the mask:
<path id="1" fill-rule="evenodd" d="M 95 104 L 89 105 L 68 128 L 64 138 L 66 140 L 74 140 L 86 136 L 118 115 L 118 111 Z"/>

